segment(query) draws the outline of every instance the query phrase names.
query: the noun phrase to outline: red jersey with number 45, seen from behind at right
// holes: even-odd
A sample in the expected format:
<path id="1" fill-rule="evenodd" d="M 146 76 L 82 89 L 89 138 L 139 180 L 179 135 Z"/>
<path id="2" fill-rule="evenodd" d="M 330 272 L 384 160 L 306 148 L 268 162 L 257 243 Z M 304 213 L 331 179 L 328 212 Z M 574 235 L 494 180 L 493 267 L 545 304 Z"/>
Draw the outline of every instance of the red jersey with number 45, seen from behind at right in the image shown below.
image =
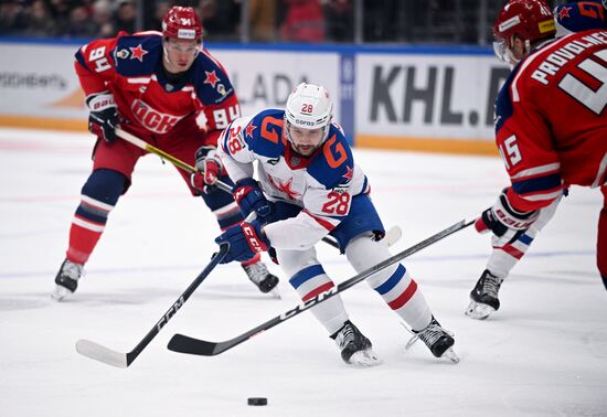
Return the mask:
<path id="1" fill-rule="evenodd" d="M 607 31 L 544 45 L 512 72 L 496 103 L 496 140 L 510 203 L 549 205 L 567 184 L 607 180 Z"/>

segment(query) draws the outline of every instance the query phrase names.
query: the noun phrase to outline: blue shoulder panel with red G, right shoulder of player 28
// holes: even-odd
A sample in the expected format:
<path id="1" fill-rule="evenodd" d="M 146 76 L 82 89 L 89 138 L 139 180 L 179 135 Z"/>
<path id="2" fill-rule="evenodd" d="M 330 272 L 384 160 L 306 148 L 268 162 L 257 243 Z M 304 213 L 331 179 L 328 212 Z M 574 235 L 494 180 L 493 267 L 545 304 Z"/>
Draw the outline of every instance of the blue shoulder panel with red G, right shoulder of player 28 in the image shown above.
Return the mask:
<path id="1" fill-rule="evenodd" d="M 352 180 L 354 174 L 352 149 L 343 131 L 336 125 L 331 125 L 329 137 L 308 167 L 308 174 L 328 190 L 348 185 Z"/>

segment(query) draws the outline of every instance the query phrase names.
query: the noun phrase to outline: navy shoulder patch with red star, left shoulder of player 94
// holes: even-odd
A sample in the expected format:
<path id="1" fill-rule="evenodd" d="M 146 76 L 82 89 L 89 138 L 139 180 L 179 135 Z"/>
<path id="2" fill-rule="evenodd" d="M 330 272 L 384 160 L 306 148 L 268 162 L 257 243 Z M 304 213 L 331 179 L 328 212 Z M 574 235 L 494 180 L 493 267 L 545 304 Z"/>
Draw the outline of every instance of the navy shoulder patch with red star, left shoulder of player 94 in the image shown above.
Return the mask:
<path id="1" fill-rule="evenodd" d="M 114 58 L 119 75 L 149 76 L 162 58 L 162 38 L 158 34 L 120 36 L 114 50 Z"/>

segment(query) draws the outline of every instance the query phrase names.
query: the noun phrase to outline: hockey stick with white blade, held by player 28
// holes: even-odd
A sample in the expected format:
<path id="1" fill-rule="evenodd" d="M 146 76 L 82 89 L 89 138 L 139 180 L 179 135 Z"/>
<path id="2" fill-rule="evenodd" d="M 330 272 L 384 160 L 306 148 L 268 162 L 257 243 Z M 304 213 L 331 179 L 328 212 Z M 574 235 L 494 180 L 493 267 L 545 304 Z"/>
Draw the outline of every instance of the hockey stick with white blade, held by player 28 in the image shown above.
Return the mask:
<path id="1" fill-rule="evenodd" d="M 190 296 L 194 292 L 194 290 L 201 285 L 202 281 L 211 274 L 211 271 L 217 266 L 219 263 L 225 257 L 227 254 L 227 250 L 230 249 L 228 244 L 222 244 L 220 246 L 220 252 L 214 254 L 211 258 L 211 261 L 206 267 L 200 272 L 200 275 L 194 279 L 192 284 L 183 291 L 183 293 L 177 299 L 175 302 L 167 310 L 164 316 L 160 318 L 160 320 L 155 324 L 153 328 L 146 334 L 143 339 L 139 343 L 137 343 L 137 346 L 128 353 L 123 352 L 116 352 L 111 349 L 102 346 L 98 343 L 92 342 L 86 339 L 81 339 L 76 342 L 76 351 L 85 355 L 87 357 L 97 360 L 99 362 L 106 363 L 111 366 L 116 367 L 128 367 L 132 361 L 139 356 L 139 354 L 146 349 L 146 346 L 152 341 L 153 338 L 160 332 L 160 330 L 171 320 L 171 318 L 177 313 L 177 311 L 183 307 L 185 301 L 190 298 Z"/>

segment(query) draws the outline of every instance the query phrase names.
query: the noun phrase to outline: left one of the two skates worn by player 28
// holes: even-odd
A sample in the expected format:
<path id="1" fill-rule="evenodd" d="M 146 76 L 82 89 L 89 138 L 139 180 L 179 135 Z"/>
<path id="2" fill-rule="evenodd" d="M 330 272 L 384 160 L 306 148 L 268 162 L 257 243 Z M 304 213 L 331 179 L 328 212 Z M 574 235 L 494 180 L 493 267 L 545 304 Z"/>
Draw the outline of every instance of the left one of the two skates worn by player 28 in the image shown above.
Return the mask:
<path id="1" fill-rule="evenodd" d="M 352 324 L 350 320 L 343 323 L 343 327 L 331 339 L 341 351 L 341 359 L 347 364 L 359 366 L 374 366 L 382 363 L 375 352 L 372 351 L 372 344 L 361 331 Z"/>

